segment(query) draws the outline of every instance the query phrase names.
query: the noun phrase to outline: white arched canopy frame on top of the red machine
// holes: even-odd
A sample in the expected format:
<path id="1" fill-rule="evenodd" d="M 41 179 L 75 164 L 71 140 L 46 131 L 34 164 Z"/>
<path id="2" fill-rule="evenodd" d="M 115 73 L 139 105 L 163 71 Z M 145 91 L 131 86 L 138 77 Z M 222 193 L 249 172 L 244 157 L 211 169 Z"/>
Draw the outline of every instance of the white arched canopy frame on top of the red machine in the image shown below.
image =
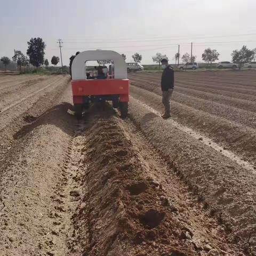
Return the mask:
<path id="1" fill-rule="evenodd" d="M 124 58 L 121 54 L 115 51 L 84 51 L 76 55 L 72 63 L 72 79 L 83 80 L 86 79 L 85 62 L 89 60 L 113 60 L 115 65 L 115 79 L 126 79 L 127 69 Z"/>

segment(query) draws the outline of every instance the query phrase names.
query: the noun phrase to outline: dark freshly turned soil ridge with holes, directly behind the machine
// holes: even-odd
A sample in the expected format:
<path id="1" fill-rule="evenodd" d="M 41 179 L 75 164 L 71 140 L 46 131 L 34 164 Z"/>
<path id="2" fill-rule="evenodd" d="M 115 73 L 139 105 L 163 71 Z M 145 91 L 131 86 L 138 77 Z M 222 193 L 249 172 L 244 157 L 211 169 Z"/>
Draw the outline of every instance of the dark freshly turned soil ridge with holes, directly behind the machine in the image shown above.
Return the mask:
<path id="1" fill-rule="evenodd" d="M 209 243 L 209 255 L 234 255 L 223 228 L 131 122 L 109 107 L 90 112 L 79 135 L 83 198 L 74 214 L 77 249 L 71 255 L 206 255 Z"/>

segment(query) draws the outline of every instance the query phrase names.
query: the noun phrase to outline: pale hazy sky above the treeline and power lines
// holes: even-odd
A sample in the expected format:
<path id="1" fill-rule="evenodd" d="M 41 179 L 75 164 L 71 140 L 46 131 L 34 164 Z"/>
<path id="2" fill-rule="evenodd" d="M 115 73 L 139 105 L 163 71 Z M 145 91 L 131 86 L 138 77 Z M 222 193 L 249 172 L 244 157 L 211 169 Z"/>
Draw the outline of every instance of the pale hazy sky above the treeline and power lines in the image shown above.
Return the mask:
<path id="1" fill-rule="evenodd" d="M 142 55 L 153 64 L 160 52 L 174 63 L 174 54 L 188 52 L 201 62 L 205 48 L 230 61 L 231 52 L 256 47 L 255 0 L 0 0 L 0 57 L 15 50 L 26 54 L 27 41 L 41 37 L 45 58 L 60 57 L 63 65 L 77 51 L 102 49 Z M 59 65 L 60 66 L 60 63 Z"/>

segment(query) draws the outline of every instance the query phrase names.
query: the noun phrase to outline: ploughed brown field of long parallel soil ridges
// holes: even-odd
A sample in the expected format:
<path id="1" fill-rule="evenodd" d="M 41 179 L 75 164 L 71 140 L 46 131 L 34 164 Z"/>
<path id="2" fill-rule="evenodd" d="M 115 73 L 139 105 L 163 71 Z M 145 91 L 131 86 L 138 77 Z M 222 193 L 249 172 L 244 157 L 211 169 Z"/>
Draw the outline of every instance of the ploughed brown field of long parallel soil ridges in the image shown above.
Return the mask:
<path id="1" fill-rule="evenodd" d="M 0 255 L 256 255 L 256 73 L 130 74 L 77 120 L 69 76 L 0 75 Z"/>

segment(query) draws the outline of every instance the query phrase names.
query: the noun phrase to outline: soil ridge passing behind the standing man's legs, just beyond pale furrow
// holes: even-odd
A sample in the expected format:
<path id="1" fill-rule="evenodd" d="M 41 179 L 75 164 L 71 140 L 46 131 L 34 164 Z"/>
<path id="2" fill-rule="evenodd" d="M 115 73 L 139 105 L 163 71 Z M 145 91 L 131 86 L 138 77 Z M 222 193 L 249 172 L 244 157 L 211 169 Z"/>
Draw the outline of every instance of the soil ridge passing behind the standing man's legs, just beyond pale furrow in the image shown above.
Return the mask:
<path id="1" fill-rule="evenodd" d="M 130 91 L 135 99 L 146 103 L 157 111 L 162 111 L 161 96 L 136 86 L 130 86 Z M 174 101 L 171 101 L 171 109 L 172 115 L 177 118 L 177 122 L 183 126 L 191 127 L 199 134 L 205 134 L 206 138 L 211 138 L 224 150 L 228 149 L 234 152 L 243 161 L 251 163 L 255 169 L 256 141 L 254 129 L 245 128 L 227 119 L 186 107 Z"/>

